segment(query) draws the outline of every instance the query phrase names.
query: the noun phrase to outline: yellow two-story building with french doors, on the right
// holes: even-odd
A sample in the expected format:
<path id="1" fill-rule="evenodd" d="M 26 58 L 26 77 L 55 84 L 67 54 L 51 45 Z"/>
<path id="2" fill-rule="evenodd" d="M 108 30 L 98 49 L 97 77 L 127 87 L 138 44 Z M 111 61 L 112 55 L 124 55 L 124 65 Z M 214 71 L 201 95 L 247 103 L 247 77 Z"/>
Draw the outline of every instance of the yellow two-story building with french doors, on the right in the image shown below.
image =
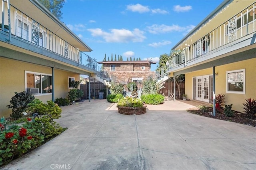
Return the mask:
<path id="1" fill-rule="evenodd" d="M 185 74 L 190 100 L 224 94 L 242 112 L 246 99 L 256 99 L 256 1 L 224 0 L 172 50 L 166 73 Z"/>

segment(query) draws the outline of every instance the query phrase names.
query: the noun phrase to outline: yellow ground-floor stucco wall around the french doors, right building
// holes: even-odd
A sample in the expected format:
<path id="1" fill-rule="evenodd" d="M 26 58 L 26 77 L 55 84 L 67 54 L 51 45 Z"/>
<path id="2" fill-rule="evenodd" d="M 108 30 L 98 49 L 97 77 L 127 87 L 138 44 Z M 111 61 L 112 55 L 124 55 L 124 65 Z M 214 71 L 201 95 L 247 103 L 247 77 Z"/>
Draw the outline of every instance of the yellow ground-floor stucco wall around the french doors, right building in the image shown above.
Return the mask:
<path id="1" fill-rule="evenodd" d="M 241 62 L 234 62 L 232 64 L 225 64 L 223 66 L 215 67 L 216 72 L 216 95 L 225 94 L 226 104 L 233 104 L 232 109 L 243 112 L 242 109 L 245 99 L 256 99 L 256 58 L 245 60 Z M 226 93 L 226 71 L 245 69 L 245 94 Z M 188 98 L 193 98 L 193 77 L 210 75 L 212 68 L 200 70 L 185 74 L 185 93 Z"/>

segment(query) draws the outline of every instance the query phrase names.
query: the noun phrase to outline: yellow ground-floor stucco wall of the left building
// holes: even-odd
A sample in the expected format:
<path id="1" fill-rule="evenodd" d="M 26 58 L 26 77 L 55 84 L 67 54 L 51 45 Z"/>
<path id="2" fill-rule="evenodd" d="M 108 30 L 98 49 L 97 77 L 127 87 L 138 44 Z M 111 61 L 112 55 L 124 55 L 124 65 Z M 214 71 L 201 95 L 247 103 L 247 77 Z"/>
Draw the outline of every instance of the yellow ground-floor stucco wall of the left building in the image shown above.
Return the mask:
<path id="1" fill-rule="evenodd" d="M 14 92 L 25 90 L 25 71 L 52 74 L 52 68 L 20 62 L 0 57 L 0 116 L 9 117 L 12 109 L 6 107 L 10 104 Z M 68 95 L 68 76 L 80 79 L 79 74 L 55 69 L 55 98 L 66 98 Z M 52 100 L 52 94 L 35 95 L 36 98 L 46 102 Z"/>

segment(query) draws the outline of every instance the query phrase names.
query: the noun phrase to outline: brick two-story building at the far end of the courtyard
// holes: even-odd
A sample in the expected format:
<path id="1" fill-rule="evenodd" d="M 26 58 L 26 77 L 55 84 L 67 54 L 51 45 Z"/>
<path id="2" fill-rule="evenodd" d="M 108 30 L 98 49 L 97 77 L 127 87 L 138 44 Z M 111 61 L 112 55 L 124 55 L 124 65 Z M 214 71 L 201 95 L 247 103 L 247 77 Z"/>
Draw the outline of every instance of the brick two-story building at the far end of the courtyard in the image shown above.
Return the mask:
<path id="1" fill-rule="evenodd" d="M 103 64 L 103 70 L 108 73 L 110 78 L 116 78 L 114 81 L 125 84 L 128 82 L 141 82 L 148 76 L 156 76 L 154 71 L 150 71 L 151 64 L 156 64 L 156 62 L 148 60 L 102 61 L 98 62 L 98 64 Z"/>

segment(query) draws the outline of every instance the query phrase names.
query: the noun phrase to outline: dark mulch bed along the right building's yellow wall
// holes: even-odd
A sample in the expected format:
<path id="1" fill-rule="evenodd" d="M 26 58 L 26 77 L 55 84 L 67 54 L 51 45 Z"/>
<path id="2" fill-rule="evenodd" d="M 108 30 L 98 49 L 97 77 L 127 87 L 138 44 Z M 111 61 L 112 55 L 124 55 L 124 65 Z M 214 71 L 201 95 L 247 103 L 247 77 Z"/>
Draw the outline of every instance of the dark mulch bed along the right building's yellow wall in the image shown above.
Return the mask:
<path id="1" fill-rule="evenodd" d="M 214 118 L 214 119 L 219 119 L 219 120 L 226 120 L 229 122 L 236 122 L 236 123 L 240 123 L 240 124 L 246 124 L 249 126 L 254 126 L 256 127 L 256 119 L 252 119 L 252 118 L 248 118 L 246 114 L 241 113 L 241 112 L 237 112 L 234 111 L 234 116 L 232 117 L 227 117 L 224 112 L 223 109 L 220 110 L 220 112 L 216 112 L 216 116 L 211 115 L 212 114 L 212 107 L 207 107 L 208 111 L 203 112 L 202 110 L 198 109 L 198 108 L 190 108 L 187 111 L 193 114 L 197 114 L 200 116 L 205 116 L 208 118 Z"/>

